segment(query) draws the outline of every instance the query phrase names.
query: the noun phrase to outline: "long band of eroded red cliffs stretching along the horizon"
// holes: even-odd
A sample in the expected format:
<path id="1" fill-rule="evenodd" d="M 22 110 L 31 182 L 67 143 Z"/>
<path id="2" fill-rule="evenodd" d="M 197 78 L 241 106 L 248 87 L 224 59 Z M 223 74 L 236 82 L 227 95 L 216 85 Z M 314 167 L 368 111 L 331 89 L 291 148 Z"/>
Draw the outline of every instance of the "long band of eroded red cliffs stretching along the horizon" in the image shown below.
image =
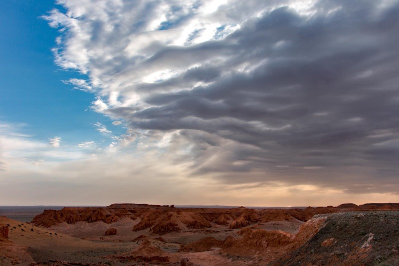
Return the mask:
<path id="1" fill-rule="evenodd" d="M 179 209 L 169 206 L 147 204 L 112 204 L 108 207 L 63 208 L 59 211 L 45 210 L 33 218 L 32 224 L 50 227 L 66 222 L 104 222 L 111 224 L 130 217 L 138 223 L 133 231 L 150 229 L 156 234 L 179 232 L 184 229 L 209 229 L 229 226 L 240 229 L 256 223 L 306 222 L 317 214 L 348 211 L 399 210 L 399 204 L 342 204 L 337 207 L 308 207 L 305 209 Z"/>

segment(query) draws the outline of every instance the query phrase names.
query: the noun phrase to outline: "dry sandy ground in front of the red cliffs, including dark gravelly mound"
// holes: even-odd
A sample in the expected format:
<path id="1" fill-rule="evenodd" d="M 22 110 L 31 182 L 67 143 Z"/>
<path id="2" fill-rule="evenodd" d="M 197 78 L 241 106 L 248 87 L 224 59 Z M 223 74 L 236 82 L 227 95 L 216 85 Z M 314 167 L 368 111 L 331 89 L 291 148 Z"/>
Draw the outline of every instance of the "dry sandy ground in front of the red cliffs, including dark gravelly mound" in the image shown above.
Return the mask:
<path id="1" fill-rule="evenodd" d="M 0 225 L 8 226 L 8 239 L 0 238 L 0 265 L 399 265 L 398 211 L 322 214 L 306 223 L 258 221 L 243 229 L 179 223 L 179 232 L 162 236 L 151 227 L 132 231 L 141 222 L 122 217 L 45 228 L 0 216 Z M 117 235 L 104 236 L 109 228 Z"/>

